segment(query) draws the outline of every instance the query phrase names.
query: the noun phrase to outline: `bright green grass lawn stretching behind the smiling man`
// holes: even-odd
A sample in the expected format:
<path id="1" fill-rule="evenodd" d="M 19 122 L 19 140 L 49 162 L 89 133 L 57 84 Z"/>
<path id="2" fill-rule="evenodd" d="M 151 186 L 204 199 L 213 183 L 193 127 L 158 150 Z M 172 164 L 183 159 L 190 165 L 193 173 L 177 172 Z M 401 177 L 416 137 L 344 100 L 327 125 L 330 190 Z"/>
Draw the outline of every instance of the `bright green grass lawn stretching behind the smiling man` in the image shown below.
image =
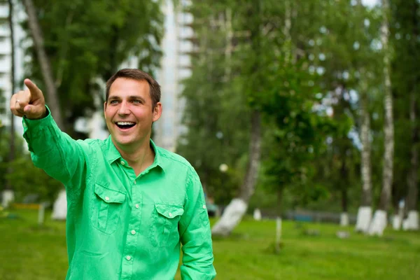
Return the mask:
<path id="1" fill-rule="evenodd" d="M 48 219 L 38 228 L 36 211 L 14 213 L 20 218 L 0 219 L 0 280 L 64 279 L 64 222 Z M 305 230 L 319 235 L 305 235 Z M 246 219 L 228 239 L 214 240 L 216 279 L 420 279 L 419 232 L 387 229 L 378 238 L 346 228 L 350 237 L 338 239 L 337 230 L 343 228 L 286 221 L 283 248 L 275 255 L 274 221 Z"/>

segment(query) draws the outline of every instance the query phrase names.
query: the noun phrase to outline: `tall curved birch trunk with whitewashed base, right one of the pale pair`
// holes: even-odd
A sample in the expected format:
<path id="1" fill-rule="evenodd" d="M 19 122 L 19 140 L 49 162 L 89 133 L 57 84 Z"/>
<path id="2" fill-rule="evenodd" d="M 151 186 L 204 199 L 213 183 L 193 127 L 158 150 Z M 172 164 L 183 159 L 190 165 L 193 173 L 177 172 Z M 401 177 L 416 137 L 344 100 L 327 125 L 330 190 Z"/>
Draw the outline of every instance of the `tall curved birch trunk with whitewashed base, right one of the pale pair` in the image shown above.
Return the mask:
<path id="1" fill-rule="evenodd" d="M 394 153 L 394 129 L 393 129 L 393 102 L 391 92 L 391 73 L 390 73 L 390 52 L 388 50 L 388 0 L 382 0 L 384 10 L 384 20 L 381 27 L 381 43 L 384 48 L 384 168 L 382 173 L 382 190 L 379 207 L 375 211 L 372 223 L 369 228 L 369 235 L 381 236 L 386 228 L 389 203 L 391 201 L 391 186 L 393 180 L 393 153 Z"/>

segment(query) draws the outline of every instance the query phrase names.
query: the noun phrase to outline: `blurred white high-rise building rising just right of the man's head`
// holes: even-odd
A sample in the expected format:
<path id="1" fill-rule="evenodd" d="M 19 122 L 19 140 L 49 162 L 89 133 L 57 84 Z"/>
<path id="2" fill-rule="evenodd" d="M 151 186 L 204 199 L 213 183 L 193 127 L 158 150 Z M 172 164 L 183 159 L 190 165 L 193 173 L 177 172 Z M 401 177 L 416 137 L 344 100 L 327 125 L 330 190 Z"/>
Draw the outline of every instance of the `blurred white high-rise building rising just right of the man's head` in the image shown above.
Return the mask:
<path id="1" fill-rule="evenodd" d="M 182 0 L 180 6 L 175 8 L 172 1 L 167 0 L 162 7 L 165 13 L 165 36 L 162 40 L 161 68 L 156 79 L 162 87 L 163 112 L 160 120 L 154 124 L 153 139 L 158 146 L 169 151 L 175 151 L 176 140 L 186 130 L 181 125 L 185 102 L 179 94 L 182 92 L 181 80 L 191 74 L 188 52 L 193 50 L 193 45 L 185 38 L 193 36 L 193 29 L 188 26 L 193 17 L 183 12 L 190 2 Z"/>

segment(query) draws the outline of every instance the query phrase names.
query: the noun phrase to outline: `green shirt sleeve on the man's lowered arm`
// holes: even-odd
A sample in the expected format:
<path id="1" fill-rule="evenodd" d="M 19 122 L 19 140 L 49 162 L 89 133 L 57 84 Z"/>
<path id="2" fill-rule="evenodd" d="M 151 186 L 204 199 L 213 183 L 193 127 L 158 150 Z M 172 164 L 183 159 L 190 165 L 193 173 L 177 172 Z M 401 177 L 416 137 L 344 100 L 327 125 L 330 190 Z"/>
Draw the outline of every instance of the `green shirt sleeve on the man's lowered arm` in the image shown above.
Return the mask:
<path id="1" fill-rule="evenodd" d="M 211 280 L 216 276 L 209 215 L 200 179 L 191 172 L 187 184 L 186 205 L 179 223 L 183 264 L 181 279 Z"/>

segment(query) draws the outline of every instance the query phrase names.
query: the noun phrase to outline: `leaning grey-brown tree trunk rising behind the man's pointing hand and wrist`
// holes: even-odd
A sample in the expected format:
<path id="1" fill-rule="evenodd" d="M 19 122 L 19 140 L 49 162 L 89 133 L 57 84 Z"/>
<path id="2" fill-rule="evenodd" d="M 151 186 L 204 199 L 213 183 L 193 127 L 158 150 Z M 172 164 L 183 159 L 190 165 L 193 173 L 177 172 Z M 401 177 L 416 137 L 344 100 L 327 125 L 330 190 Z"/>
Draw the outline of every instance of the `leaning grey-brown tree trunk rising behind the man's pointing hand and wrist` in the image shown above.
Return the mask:
<path id="1" fill-rule="evenodd" d="M 48 56 L 45 53 L 43 45 L 43 34 L 41 27 L 39 27 L 38 18 L 36 18 L 36 10 L 32 0 L 23 0 L 25 10 L 28 16 L 29 29 L 31 30 L 31 36 L 34 40 L 34 46 L 36 50 L 36 55 L 38 57 L 38 62 L 41 66 L 41 71 L 43 75 L 43 80 L 46 87 L 46 95 L 48 98 L 49 108 L 52 114 L 52 117 L 57 123 L 58 127 L 61 130 L 64 130 L 64 123 L 62 116 L 59 110 L 59 100 L 57 95 L 57 90 L 55 88 L 54 78 L 52 76 L 51 64 Z"/>

